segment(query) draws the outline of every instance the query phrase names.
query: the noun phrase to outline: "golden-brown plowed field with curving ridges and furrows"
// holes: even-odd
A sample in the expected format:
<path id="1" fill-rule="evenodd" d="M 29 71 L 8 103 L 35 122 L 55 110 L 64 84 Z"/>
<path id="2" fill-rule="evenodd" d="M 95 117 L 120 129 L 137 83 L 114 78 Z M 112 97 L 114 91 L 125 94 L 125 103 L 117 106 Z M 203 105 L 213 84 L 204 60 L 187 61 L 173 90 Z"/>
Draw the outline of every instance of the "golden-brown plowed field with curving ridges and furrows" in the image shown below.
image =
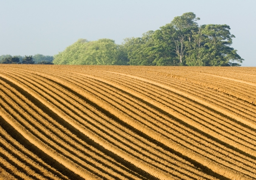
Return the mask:
<path id="1" fill-rule="evenodd" d="M 255 180 L 256 68 L 0 65 L 0 179 Z"/>

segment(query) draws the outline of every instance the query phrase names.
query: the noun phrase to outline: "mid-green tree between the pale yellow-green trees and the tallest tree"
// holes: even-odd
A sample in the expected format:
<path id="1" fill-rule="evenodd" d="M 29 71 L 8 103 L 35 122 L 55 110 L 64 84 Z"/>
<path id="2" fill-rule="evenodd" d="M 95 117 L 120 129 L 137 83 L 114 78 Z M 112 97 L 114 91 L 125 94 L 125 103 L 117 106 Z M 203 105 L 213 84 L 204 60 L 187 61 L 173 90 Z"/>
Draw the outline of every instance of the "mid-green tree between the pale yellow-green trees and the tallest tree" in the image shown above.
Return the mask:
<path id="1" fill-rule="evenodd" d="M 162 31 L 148 31 L 140 38 L 126 38 L 129 65 L 177 65 L 169 38 Z"/>

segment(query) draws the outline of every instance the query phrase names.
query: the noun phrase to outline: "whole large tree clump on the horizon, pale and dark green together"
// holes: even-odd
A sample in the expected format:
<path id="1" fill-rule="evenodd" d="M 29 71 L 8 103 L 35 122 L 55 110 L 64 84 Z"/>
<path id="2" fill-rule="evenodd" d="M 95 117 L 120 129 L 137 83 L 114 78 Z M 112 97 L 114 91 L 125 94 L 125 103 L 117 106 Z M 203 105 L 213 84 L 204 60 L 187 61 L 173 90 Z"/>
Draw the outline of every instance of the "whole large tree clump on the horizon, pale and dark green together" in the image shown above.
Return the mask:
<path id="1" fill-rule="evenodd" d="M 240 66 L 242 59 L 232 45 L 230 26 L 198 25 L 192 12 L 142 37 L 124 39 L 79 39 L 54 56 L 54 64 L 67 65 L 182 65 Z"/>

